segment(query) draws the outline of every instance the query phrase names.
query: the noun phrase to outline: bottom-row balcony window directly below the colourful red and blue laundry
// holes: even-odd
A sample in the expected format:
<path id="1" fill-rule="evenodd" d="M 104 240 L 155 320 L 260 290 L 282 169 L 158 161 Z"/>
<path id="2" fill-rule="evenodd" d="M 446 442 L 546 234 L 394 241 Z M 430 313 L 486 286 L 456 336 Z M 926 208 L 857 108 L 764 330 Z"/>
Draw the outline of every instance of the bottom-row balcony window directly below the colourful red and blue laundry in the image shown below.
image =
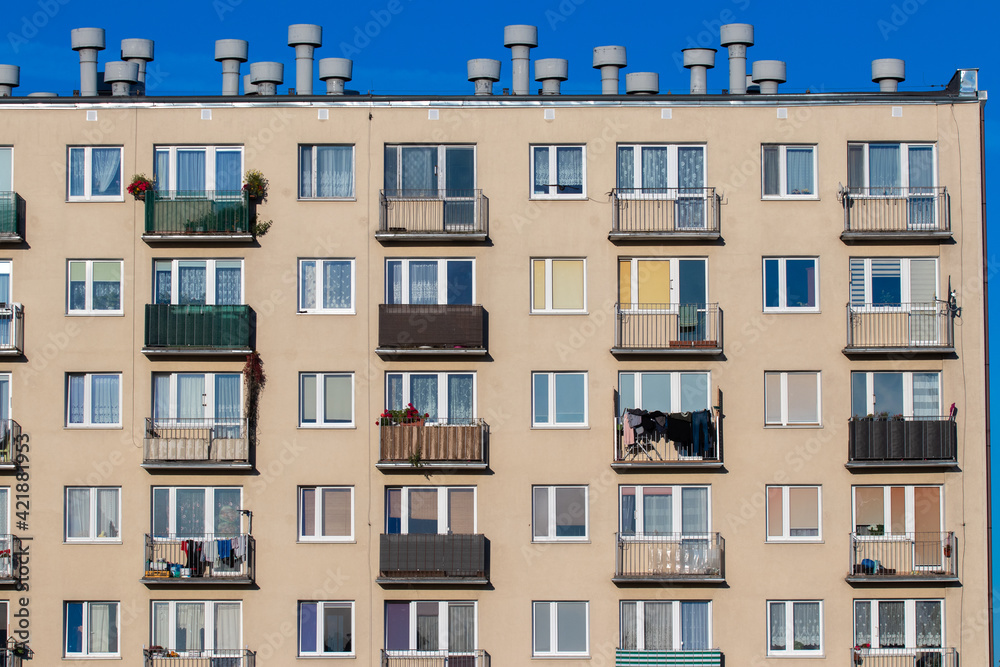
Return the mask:
<path id="1" fill-rule="evenodd" d="M 226 600 L 154 600 L 150 643 L 184 655 L 236 657 L 243 646 L 243 605 Z"/>

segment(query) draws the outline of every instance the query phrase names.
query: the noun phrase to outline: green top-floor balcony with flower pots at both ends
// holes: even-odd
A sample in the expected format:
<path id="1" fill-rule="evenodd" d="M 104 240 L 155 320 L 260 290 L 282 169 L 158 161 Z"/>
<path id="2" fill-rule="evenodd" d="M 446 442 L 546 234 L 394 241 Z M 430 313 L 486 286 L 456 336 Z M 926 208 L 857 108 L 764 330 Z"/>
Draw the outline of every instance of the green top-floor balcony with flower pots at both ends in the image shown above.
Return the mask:
<path id="1" fill-rule="evenodd" d="M 253 240 L 245 192 L 170 190 L 146 193 L 144 241 Z"/>

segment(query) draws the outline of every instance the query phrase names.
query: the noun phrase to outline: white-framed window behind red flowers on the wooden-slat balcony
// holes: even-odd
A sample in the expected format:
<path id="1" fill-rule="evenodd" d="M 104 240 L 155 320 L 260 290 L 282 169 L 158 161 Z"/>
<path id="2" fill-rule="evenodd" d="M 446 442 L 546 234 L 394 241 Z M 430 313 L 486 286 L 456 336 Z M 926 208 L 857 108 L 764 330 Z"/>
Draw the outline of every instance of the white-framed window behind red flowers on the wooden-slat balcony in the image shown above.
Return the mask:
<path id="1" fill-rule="evenodd" d="M 476 374 L 386 373 L 385 403 L 390 410 L 412 403 L 431 423 L 468 424 L 476 416 Z"/>

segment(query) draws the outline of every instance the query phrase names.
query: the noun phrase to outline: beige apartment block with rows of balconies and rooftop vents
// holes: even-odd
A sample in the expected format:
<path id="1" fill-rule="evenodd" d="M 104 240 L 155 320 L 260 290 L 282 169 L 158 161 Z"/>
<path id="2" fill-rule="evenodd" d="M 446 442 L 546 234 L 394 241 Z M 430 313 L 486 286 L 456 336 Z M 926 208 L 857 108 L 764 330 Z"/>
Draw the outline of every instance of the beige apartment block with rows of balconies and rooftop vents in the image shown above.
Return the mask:
<path id="1" fill-rule="evenodd" d="M 294 96 L 83 29 L 0 98 L 5 664 L 990 662 L 976 70 L 538 95 L 510 26 L 513 94 L 322 95 L 289 34 Z"/>

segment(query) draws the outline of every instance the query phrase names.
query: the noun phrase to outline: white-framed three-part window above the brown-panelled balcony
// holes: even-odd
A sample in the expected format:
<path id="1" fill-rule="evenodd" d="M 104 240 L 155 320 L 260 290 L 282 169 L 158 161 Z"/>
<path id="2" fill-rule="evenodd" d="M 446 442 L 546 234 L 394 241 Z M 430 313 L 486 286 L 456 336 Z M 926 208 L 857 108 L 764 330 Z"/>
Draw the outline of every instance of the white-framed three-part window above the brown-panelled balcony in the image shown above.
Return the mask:
<path id="1" fill-rule="evenodd" d="M 387 304 L 466 304 L 476 301 L 471 259 L 387 259 Z"/>

